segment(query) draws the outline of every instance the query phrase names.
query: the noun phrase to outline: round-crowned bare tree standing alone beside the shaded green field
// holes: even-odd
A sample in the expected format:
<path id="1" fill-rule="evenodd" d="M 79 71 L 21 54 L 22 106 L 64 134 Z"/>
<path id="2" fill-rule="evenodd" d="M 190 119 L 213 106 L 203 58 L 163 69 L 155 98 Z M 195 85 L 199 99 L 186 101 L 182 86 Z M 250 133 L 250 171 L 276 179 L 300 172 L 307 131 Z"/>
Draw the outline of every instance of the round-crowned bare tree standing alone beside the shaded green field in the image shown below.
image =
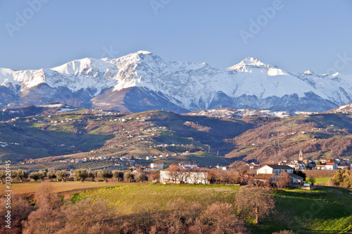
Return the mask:
<path id="1" fill-rule="evenodd" d="M 242 187 L 236 194 L 235 205 L 241 216 L 256 218 L 256 224 L 275 208 L 272 191 L 261 187 Z"/>

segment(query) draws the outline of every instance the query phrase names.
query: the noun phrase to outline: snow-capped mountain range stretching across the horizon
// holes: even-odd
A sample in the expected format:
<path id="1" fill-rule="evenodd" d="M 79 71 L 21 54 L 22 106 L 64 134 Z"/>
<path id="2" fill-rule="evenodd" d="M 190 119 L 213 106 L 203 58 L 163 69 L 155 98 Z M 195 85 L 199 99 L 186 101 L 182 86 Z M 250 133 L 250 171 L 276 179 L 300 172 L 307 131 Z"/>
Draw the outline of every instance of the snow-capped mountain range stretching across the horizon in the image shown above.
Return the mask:
<path id="1" fill-rule="evenodd" d="M 120 111 L 327 111 L 352 101 L 352 75 L 289 73 L 256 58 L 227 69 L 165 61 L 149 51 L 82 58 L 41 70 L 0 68 L 0 107 L 59 101 Z"/>

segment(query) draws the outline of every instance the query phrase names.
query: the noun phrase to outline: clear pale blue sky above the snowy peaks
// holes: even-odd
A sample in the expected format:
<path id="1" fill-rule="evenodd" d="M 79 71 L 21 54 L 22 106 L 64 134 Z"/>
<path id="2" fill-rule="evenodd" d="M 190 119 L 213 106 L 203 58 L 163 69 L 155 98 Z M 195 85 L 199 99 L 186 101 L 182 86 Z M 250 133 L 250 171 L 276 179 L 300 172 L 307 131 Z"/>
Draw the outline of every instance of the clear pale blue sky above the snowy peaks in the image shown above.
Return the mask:
<path id="1" fill-rule="evenodd" d="M 45 0 L 34 11 L 29 2 L 36 1 L 0 0 L 1 68 L 52 68 L 147 50 L 219 68 L 251 56 L 292 72 L 325 73 L 337 63 L 352 74 L 352 1 L 282 0 L 270 18 L 261 8 L 277 1 Z M 262 20 L 259 32 L 251 33 L 251 19 Z M 246 44 L 241 30 L 252 35 Z"/>

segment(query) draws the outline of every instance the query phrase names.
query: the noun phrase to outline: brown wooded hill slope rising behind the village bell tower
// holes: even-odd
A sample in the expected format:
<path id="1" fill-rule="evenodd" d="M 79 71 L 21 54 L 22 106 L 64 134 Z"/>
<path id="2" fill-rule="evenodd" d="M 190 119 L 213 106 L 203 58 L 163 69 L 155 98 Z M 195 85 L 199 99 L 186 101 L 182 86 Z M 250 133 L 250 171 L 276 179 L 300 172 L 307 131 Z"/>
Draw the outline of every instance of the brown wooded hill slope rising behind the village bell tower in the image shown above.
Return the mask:
<path id="1" fill-rule="evenodd" d="M 233 140 L 237 149 L 226 156 L 245 161 L 272 163 L 304 159 L 335 159 L 352 153 L 351 117 L 334 113 L 295 116 L 266 123 Z"/>

